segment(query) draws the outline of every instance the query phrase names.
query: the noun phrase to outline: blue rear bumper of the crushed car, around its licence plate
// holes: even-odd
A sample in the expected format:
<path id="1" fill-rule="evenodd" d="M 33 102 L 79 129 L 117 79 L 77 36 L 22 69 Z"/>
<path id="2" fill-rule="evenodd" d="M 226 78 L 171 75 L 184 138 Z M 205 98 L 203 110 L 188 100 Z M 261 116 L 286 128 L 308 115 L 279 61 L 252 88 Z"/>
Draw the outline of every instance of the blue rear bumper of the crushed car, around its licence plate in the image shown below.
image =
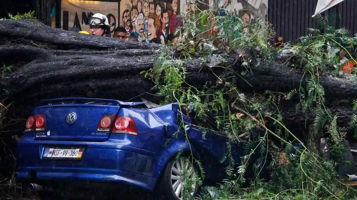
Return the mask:
<path id="1" fill-rule="evenodd" d="M 80 160 L 43 159 L 46 146 L 84 146 Z M 121 182 L 154 189 L 157 174 L 155 152 L 117 143 L 20 142 L 17 148 L 17 178 Z"/>

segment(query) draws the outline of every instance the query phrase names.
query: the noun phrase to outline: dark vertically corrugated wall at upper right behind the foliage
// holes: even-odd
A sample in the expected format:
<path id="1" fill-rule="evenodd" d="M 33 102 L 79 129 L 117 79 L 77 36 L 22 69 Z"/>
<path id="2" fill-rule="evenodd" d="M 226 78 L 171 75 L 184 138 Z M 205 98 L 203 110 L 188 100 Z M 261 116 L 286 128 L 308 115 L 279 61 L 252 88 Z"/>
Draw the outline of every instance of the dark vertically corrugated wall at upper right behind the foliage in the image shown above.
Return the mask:
<path id="1" fill-rule="evenodd" d="M 317 0 L 269 0 L 268 21 L 273 24 L 277 37 L 296 43 L 297 39 L 307 34 L 307 28 L 316 28 L 315 12 Z M 341 20 L 339 27 L 357 33 L 357 0 L 345 0 L 338 4 Z M 325 12 L 327 14 L 327 12 Z"/>

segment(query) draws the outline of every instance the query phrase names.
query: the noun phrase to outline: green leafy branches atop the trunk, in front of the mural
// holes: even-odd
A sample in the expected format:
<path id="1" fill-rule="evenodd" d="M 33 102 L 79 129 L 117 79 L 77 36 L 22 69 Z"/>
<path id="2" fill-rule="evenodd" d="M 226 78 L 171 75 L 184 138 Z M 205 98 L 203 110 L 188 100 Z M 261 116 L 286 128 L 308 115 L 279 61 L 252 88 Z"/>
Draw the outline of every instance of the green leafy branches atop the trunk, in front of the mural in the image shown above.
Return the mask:
<path id="1" fill-rule="evenodd" d="M 185 58 L 200 56 L 200 59 L 207 59 L 212 51 L 224 48 L 226 44 L 229 48 L 259 48 L 263 55 L 272 57 L 273 51 L 268 41 L 275 37 L 275 31 L 268 29 L 272 27 L 271 24 L 258 20 L 249 26 L 249 32 L 246 33 L 241 31 L 244 25 L 240 18 L 232 18 L 230 15 L 214 16 L 213 12 L 219 10 L 197 9 L 179 16 L 184 23 L 175 31 L 175 34 L 181 33 L 176 46 Z M 212 30 L 218 32 L 211 35 L 209 33 Z M 219 44 L 213 45 L 215 42 Z M 258 57 L 256 59 L 260 60 Z M 246 60 L 246 64 L 249 62 L 250 60 Z"/>

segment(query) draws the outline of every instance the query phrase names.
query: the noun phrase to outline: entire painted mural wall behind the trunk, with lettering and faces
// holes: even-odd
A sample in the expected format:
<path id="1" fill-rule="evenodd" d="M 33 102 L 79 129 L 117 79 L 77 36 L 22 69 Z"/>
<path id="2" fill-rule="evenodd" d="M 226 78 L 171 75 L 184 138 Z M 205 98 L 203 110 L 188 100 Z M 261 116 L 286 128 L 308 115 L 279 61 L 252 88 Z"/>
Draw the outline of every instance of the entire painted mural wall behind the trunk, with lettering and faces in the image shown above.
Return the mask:
<path id="1" fill-rule="evenodd" d="M 51 0 L 54 4 L 55 0 Z M 161 43 L 167 42 L 167 36 L 174 33 L 182 20 L 177 17 L 181 10 L 186 11 L 195 0 L 60 0 L 61 28 L 68 30 L 77 27 L 89 31 L 88 18 L 101 12 L 109 23 L 115 22 L 111 32 L 117 26 L 125 27 L 127 38 L 136 37 L 138 41 L 150 42 L 154 38 Z M 201 0 L 202 1 L 202 0 Z M 268 0 L 204 0 L 206 8 L 226 8 L 229 12 L 220 15 L 241 17 L 250 24 L 258 17 L 267 19 Z M 55 26 L 55 6 L 51 12 L 51 26 Z"/>

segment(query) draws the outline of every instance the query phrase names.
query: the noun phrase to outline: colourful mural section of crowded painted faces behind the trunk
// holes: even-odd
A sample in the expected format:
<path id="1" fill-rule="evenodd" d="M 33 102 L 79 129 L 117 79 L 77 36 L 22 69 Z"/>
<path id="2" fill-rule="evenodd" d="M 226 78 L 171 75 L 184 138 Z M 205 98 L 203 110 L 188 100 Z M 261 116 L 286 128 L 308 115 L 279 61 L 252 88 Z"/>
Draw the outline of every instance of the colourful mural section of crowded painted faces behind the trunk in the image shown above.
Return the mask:
<path id="1" fill-rule="evenodd" d="M 166 43 L 167 36 L 182 26 L 179 13 L 180 0 L 121 0 L 119 25 L 125 27 L 127 38 Z"/>

